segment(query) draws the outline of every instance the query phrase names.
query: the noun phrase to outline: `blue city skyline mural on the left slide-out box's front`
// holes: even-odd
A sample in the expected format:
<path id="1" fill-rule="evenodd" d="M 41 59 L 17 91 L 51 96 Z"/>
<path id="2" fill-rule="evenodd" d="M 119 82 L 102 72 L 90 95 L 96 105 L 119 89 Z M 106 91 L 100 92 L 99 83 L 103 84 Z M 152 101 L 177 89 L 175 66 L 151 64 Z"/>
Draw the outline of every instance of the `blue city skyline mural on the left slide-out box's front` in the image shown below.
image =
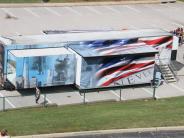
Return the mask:
<path id="1" fill-rule="evenodd" d="M 12 82 L 16 82 L 18 89 L 74 83 L 75 58 L 73 55 L 12 58 L 9 61 L 11 62 L 8 62 L 8 66 L 11 68 L 8 69 L 7 77 Z M 12 61 L 16 62 L 14 66 L 19 68 L 18 70 L 13 69 Z"/>

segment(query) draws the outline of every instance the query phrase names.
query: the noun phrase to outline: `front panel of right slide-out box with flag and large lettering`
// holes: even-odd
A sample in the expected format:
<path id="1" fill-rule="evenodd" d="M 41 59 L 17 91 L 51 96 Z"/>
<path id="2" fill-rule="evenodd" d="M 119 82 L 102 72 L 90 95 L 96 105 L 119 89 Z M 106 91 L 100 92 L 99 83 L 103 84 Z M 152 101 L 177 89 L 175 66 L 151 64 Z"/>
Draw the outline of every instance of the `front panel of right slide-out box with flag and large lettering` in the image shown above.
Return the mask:
<path id="1" fill-rule="evenodd" d="M 149 56 L 105 57 L 98 61 L 87 59 L 82 62 L 80 87 L 99 88 L 148 83 L 153 78 L 154 67 L 154 54 Z"/>

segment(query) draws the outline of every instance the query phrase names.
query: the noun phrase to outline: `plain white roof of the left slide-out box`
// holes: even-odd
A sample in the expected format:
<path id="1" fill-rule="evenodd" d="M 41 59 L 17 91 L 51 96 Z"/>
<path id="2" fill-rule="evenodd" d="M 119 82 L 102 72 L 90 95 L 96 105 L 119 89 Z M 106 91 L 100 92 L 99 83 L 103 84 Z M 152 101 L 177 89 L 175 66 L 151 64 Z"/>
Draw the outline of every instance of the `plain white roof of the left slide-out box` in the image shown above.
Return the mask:
<path id="1" fill-rule="evenodd" d="M 16 57 L 35 57 L 35 56 L 53 56 L 72 54 L 65 47 L 61 48 L 44 48 L 44 49 L 24 49 L 24 50 L 10 50 L 10 53 Z"/>

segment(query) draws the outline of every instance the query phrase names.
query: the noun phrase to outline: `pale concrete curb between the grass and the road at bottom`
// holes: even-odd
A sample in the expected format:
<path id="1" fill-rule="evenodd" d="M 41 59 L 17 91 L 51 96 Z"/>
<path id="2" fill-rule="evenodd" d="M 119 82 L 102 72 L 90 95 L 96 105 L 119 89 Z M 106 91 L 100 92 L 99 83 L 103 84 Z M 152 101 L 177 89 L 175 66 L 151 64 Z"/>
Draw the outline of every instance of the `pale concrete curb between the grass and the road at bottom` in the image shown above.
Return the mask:
<path id="1" fill-rule="evenodd" d="M 102 134 L 117 134 L 117 133 L 143 133 L 143 132 L 158 132 L 158 131 L 183 131 L 184 126 L 171 127 L 152 127 L 152 128 L 132 128 L 132 129 L 112 129 L 99 131 L 83 131 L 83 132 L 67 132 L 67 133 L 53 133 L 41 135 L 16 136 L 13 138 L 64 138 L 74 136 L 87 135 L 102 135 Z"/>

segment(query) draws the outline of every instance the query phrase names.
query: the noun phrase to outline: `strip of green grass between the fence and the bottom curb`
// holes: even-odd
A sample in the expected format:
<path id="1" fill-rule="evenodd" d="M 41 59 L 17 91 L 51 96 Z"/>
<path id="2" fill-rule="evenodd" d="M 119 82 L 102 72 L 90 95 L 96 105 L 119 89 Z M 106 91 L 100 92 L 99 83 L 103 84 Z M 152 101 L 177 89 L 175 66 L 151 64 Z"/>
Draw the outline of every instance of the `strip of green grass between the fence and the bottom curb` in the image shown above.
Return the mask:
<path id="1" fill-rule="evenodd" d="M 0 112 L 11 135 L 184 125 L 184 97 Z"/>

